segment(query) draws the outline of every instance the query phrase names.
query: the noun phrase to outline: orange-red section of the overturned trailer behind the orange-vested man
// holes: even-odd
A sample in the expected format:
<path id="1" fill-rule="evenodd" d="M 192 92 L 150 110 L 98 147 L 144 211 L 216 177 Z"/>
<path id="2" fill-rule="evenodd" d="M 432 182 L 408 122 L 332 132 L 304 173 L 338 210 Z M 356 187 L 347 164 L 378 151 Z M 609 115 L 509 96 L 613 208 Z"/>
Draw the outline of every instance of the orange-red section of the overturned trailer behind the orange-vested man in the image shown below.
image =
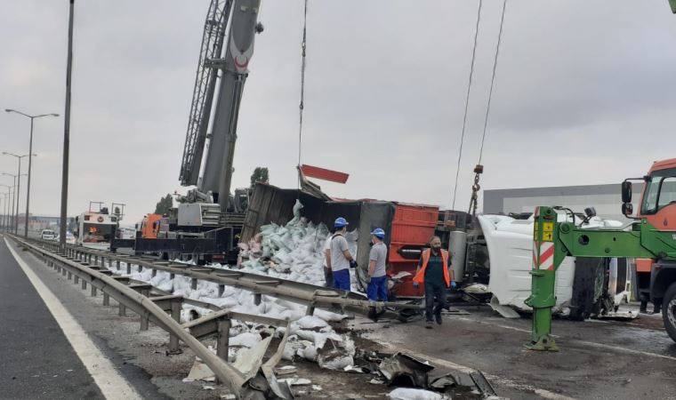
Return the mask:
<path id="1" fill-rule="evenodd" d="M 420 260 L 420 252 L 434 235 L 439 219 L 439 207 L 432 205 L 403 204 L 395 206 L 390 232 L 390 251 L 388 274 L 396 276 L 408 272 L 411 276 L 402 278 L 403 282 L 393 288 L 398 297 L 420 297 L 422 287 L 413 287 L 413 275 Z"/>

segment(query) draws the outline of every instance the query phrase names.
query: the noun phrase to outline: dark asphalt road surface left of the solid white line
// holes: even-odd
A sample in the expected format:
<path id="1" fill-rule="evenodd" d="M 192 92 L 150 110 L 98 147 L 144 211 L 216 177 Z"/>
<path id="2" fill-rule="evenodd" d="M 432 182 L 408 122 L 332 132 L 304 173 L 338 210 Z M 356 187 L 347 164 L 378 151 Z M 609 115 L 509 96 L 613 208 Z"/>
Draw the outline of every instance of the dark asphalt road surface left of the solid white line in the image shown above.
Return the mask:
<path id="1" fill-rule="evenodd" d="M 103 398 L 0 239 L 0 398 Z"/>

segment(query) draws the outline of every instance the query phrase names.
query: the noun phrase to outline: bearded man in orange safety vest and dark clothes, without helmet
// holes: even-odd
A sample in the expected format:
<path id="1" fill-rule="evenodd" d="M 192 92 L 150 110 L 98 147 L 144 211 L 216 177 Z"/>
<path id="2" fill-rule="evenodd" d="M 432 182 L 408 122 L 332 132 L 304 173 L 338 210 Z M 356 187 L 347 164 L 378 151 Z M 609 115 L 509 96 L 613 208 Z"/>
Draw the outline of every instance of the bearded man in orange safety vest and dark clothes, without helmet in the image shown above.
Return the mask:
<path id="1" fill-rule="evenodd" d="M 447 289 L 455 288 L 455 281 L 451 270 L 451 253 L 441 249 L 439 236 L 432 236 L 429 244 L 430 248 L 422 251 L 418 261 L 413 285 L 417 288 L 420 284 L 424 284 L 425 328 L 432 329 L 432 316 L 437 324 L 441 324 L 441 310 L 447 308 Z"/>

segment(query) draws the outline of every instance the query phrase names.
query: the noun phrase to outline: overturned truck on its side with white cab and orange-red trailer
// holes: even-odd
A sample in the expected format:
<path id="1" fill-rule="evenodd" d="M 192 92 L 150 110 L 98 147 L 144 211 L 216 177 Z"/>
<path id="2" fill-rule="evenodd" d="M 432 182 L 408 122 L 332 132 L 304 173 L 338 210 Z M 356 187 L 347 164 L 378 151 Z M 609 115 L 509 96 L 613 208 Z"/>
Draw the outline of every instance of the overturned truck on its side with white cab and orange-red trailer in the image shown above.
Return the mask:
<path id="1" fill-rule="evenodd" d="M 258 183 L 245 215 L 240 242 L 250 241 L 262 226 L 270 223 L 283 226 L 293 220 L 296 201 L 303 205 L 302 217 L 316 225 L 331 227 L 340 216 L 350 221 L 350 230 L 361 233 L 357 235 L 359 290 L 366 288 L 371 241 L 368 232 L 382 228 L 389 248 L 387 272 L 393 299 L 422 297 L 422 288 L 414 288 L 412 278 L 422 250 L 430 237 L 437 235 L 454 254 L 455 280 L 463 288 L 463 292 L 455 293 L 455 298 L 492 300 L 498 311 L 530 309 L 523 300 L 530 292 L 532 220 L 491 215 L 474 219 L 466 212 L 443 211 L 433 205 L 333 199 L 319 190 Z M 585 223 L 594 228 L 606 222 L 597 218 Z M 580 264 L 585 268 L 576 268 Z M 591 265 L 593 268 L 589 268 Z M 562 271 L 557 283 L 556 308 L 561 315 L 575 319 L 614 315 L 618 305 L 628 299 L 631 280 L 626 260 L 570 258 Z"/>

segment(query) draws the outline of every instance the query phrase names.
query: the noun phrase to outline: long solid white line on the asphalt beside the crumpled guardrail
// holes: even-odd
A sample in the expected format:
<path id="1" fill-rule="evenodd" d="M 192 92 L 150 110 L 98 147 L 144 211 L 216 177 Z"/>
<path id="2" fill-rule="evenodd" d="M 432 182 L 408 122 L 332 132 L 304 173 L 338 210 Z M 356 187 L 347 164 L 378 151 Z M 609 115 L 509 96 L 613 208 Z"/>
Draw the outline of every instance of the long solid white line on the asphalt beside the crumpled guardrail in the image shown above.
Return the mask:
<path id="1" fill-rule="evenodd" d="M 22 260 L 19 254 L 12 249 L 6 238 L 4 239 L 4 243 L 10 249 L 10 252 L 12 252 L 20 268 L 23 269 L 24 274 L 28 276 L 30 283 L 36 288 L 36 292 L 44 301 L 44 305 L 49 308 L 61 331 L 63 331 L 70 342 L 70 346 L 75 349 L 77 356 L 80 357 L 87 371 L 92 375 L 96 385 L 101 388 L 103 396 L 110 400 L 141 400 L 142 397 L 136 389 L 117 372 L 109 359 L 101 354 L 101 350 L 93 344 L 93 341 L 89 339 L 89 336 L 84 332 L 80 324 L 77 324 L 75 318 L 61 305 L 60 300 L 43 284 L 35 272 L 28 267 L 26 261 Z"/>

